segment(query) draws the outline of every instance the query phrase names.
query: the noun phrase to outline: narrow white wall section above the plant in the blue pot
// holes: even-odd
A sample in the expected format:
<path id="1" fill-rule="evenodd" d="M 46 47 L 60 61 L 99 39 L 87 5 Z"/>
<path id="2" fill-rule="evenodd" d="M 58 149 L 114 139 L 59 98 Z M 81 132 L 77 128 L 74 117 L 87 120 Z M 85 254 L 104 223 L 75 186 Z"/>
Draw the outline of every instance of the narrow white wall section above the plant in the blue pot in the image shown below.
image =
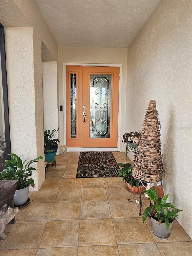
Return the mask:
<path id="1" fill-rule="evenodd" d="M 57 62 L 42 62 L 44 131 L 58 129 Z M 58 138 L 58 133 L 56 134 Z M 57 151 L 58 154 L 59 151 Z"/>

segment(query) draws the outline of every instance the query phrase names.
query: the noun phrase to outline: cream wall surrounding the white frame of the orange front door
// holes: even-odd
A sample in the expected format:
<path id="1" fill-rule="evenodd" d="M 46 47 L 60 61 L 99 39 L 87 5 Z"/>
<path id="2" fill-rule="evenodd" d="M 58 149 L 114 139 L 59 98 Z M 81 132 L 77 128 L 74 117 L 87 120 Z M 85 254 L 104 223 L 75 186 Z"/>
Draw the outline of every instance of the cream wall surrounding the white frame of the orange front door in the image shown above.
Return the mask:
<path id="1" fill-rule="evenodd" d="M 127 48 L 89 48 L 89 47 L 58 47 L 59 58 L 59 104 L 65 105 L 63 99 L 63 63 L 99 63 L 122 64 L 122 111 L 125 116 L 126 76 L 127 76 Z M 59 113 L 60 144 L 64 143 L 63 112 Z M 125 132 L 125 122 L 121 123 L 121 134 Z M 120 138 L 121 139 L 121 138 Z M 124 144 L 121 144 L 121 151 Z"/>

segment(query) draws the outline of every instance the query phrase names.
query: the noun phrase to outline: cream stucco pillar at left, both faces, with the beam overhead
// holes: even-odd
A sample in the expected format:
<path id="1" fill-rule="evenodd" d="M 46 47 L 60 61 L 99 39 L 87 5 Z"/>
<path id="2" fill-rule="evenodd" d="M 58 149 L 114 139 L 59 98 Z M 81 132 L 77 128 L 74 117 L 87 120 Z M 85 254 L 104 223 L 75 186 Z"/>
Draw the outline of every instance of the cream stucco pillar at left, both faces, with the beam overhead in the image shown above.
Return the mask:
<path id="1" fill-rule="evenodd" d="M 10 62 L 7 78 L 10 81 L 11 149 L 25 159 L 32 159 L 44 155 L 41 43 L 44 42 L 55 61 L 58 60 L 58 46 L 35 1 L 1 1 L 1 23 L 7 37 L 6 58 Z M 29 31 L 31 38 L 26 34 Z M 26 38 L 22 36 L 24 32 Z M 34 172 L 35 188 L 32 191 L 38 190 L 45 179 L 44 161 L 39 161 L 36 166 L 38 171 Z"/>

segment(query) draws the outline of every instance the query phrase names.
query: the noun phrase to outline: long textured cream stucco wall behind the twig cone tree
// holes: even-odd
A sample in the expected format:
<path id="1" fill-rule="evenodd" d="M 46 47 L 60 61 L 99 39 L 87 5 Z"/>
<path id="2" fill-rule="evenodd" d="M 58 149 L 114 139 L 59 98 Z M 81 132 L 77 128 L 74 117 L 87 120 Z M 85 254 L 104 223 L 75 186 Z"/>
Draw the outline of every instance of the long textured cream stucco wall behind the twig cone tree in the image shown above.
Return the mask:
<path id="1" fill-rule="evenodd" d="M 192 238 L 191 1 L 161 1 L 128 47 L 127 130 L 140 130 L 151 99 L 161 121 L 165 194 Z"/>

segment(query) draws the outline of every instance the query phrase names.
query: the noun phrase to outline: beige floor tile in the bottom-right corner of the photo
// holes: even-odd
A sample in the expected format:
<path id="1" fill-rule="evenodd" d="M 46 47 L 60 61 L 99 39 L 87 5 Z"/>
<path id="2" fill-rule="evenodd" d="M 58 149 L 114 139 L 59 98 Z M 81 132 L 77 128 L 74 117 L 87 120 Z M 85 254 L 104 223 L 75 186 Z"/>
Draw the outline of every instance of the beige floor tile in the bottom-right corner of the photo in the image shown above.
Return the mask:
<path id="1" fill-rule="evenodd" d="M 159 250 L 163 256 L 191 256 L 192 255 L 192 242 L 169 242 L 157 243 Z"/>

